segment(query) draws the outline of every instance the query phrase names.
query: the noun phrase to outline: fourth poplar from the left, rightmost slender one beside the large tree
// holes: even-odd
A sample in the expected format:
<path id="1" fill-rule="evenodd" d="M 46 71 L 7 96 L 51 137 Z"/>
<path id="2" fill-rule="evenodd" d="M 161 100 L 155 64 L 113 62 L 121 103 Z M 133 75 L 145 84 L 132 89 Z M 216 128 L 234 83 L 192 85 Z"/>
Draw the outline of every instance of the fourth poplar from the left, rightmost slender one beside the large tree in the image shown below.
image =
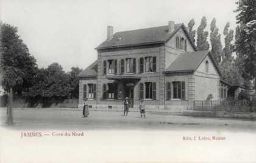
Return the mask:
<path id="1" fill-rule="evenodd" d="M 226 26 L 224 27 L 223 34 L 225 36 L 225 47 L 222 50 L 222 60 L 230 60 L 233 61 L 232 53 L 234 51 L 235 46 L 231 43 L 233 41 L 233 30 L 230 29 L 230 23 L 227 22 Z"/>

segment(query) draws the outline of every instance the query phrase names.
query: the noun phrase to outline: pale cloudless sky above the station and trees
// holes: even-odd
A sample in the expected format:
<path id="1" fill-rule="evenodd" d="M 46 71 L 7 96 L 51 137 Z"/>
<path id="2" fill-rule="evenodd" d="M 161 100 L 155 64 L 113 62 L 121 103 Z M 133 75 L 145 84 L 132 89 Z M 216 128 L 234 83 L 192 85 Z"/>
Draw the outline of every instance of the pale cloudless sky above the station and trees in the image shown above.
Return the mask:
<path id="1" fill-rule="evenodd" d="M 207 30 L 216 18 L 223 33 L 227 21 L 235 30 L 237 0 L 1 0 L 0 19 L 18 27 L 18 35 L 37 60 L 39 68 L 57 62 L 63 70 L 85 69 L 97 60 L 94 49 L 107 39 L 107 26 L 114 33 L 167 26 L 168 21 L 187 26 L 194 18 L 197 29 L 202 16 Z M 210 39 L 210 36 L 208 36 Z M 224 36 L 221 36 L 224 45 Z M 209 41 L 210 43 L 210 41 Z"/>

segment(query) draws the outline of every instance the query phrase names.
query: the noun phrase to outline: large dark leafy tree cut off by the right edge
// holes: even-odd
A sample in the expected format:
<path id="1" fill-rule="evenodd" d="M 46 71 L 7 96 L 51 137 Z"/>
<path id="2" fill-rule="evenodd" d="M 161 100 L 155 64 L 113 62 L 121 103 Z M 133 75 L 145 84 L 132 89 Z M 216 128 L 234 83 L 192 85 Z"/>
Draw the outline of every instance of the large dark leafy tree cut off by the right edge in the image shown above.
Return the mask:
<path id="1" fill-rule="evenodd" d="M 240 24 L 236 52 L 244 57 L 244 77 L 253 80 L 256 78 L 256 1 L 240 0 L 236 4 L 236 20 Z"/>

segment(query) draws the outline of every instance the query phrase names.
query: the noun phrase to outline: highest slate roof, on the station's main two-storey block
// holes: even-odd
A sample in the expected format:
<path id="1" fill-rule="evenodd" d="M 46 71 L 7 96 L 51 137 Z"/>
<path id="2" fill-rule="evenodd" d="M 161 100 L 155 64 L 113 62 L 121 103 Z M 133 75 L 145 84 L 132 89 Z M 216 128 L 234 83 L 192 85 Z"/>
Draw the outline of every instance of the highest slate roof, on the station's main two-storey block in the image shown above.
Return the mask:
<path id="1" fill-rule="evenodd" d="M 111 40 L 106 40 L 95 49 L 109 49 L 116 47 L 139 46 L 145 44 L 166 43 L 171 37 L 182 28 L 190 40 L 194 50 L 196 47 L 188 36 L 188 31 L 184 24 L 175 24 L 174 30 L 168 33 L 168 26 L 152 27 L 148 29 L 129 30 L 116 32 Z"/>

